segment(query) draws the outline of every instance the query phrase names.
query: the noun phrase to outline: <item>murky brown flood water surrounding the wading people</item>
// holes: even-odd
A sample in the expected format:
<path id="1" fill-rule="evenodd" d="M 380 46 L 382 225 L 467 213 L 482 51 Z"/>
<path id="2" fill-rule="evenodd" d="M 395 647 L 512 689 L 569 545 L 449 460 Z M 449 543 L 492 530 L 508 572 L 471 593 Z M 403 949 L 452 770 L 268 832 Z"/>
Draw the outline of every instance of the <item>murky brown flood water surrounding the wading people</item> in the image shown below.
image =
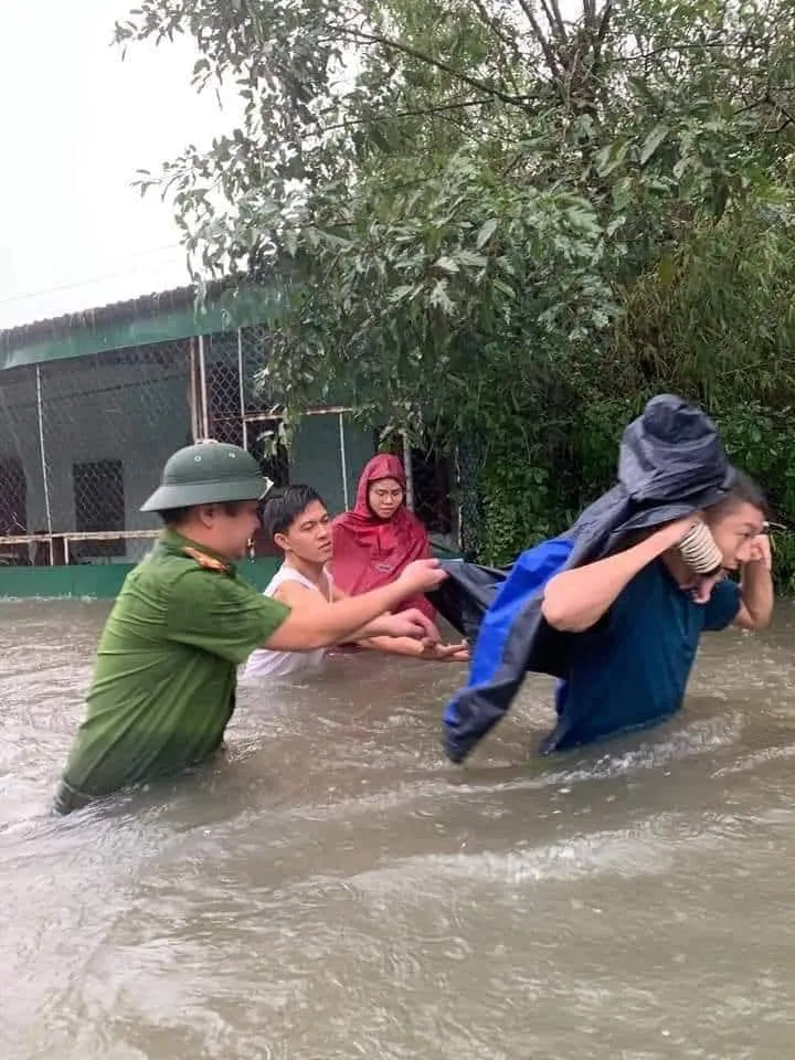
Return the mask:
<path id="1" fill-rule="evenodd" d="M 669 724 L 464 768 L 465 668 L 246 688 L 227 760 L 49 814 L 104 603 L 0 604 L 3 1060 L 795 1054 L 795 608 L 706 639 Z"/>

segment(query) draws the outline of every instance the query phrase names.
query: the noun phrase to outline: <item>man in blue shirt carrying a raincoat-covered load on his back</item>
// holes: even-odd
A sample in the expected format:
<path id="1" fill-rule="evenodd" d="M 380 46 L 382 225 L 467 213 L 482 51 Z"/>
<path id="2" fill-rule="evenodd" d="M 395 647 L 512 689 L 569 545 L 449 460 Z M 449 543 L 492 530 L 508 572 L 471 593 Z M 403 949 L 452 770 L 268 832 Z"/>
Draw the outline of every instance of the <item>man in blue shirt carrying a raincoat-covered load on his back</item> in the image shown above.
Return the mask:
<path id="1" fill-rule="evenodd" d="M 468 683 L 444 712 L 448 757 L 470 754 L 528 672 L 559 679 L 543 753 L 674 716 L 703 633 L 771 621 L 766 519 L 762 489 L 729 464 L 709 416 L 653 398 L 624 432 L 613 488 L 497 572 Z M 488 574 L 462 564 L 457 576 Z"/>

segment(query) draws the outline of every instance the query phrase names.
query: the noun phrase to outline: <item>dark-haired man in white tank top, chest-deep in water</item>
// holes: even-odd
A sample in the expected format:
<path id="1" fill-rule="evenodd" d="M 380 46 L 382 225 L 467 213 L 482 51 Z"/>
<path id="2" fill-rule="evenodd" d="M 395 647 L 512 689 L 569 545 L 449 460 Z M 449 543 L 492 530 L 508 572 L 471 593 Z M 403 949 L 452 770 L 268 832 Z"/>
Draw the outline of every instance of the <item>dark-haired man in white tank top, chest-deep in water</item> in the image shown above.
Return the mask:
<path id="1" fill-rule="evenodd" d="M 299 606 L 307 593 L 320 593 L 329 603 L 346 596 L 335 586 L 327 570 L 332 552 L 330 523 L 326 505 L 310 486 L 271 490 L 263 512 L 263 529 L 285 559 L 265 590 L 266 596 L 293 606 Z M 367 634 L 354 634 L 350 640 L 362 647 L 424 659 L 464 662 L 469 657 L 466 644 L 427 644 L 411 637 L 369 637 Z M 317 668 L 325 654 L 325 648 L 315 651 L 258 649 L 250 656 L 243 677 L 283 677 Z"/>

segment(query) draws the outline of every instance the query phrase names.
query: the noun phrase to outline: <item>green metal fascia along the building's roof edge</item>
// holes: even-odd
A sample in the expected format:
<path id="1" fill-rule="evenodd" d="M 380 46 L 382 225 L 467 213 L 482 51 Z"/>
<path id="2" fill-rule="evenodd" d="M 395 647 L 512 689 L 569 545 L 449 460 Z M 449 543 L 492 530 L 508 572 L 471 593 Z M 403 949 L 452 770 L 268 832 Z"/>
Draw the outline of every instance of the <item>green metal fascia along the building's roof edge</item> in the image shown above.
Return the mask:
<path id="1" fill-rule="evenodd" d="M 234 289 L 230 283 L 218 283 L 208 288 L 201 306 L 194 287 L 178 287 L 36 320 L 0 331 L 0 371 L 233 331 L 271 319 L 278 312 L 279 301 L 275 287 Z"/>

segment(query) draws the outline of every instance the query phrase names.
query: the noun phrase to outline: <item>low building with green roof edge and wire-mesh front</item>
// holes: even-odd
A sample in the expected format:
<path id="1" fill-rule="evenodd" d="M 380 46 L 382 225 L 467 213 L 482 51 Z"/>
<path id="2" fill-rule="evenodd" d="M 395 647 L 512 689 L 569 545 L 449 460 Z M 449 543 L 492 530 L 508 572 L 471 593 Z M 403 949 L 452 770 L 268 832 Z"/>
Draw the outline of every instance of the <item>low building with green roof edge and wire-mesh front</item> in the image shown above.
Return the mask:
<path id="1" fill-rule="evenodd" d="M 258 373 L 274 309 L 271 294 L 239 297 L 233 327 L 218 288 L 201 308 L 180 288 L 0 332 L 0 596 L 114 596 L 157 533 L 140 505 L 195 438 L 244 445 L 335 511 L 352 504 L 378 432 L 351 410 L 315 409 L 289 451 L 267 444 L 279 407 Z M 445 462 L 415 452 L 407 464 L 415 509 L 455 548 Z M 246 573 L 261 585 L 274 559 L 256 551 Z"/>

